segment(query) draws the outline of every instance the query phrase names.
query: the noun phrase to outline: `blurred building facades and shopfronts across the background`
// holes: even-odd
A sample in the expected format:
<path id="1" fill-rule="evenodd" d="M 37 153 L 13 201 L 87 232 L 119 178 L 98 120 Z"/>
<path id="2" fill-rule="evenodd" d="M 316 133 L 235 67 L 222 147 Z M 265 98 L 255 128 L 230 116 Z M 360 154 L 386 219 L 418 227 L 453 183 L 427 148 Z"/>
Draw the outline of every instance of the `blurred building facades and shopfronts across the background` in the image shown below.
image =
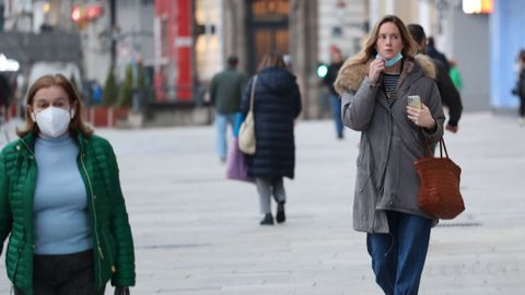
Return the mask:
<path id="1" fill-rule="evenodd" d="M 89 105 L 131 107 L 145 122 L 173 125 L 209 122 L 207 87 L 230 55 L 254 74 L 261 56 L 278 50 L 298 76 L 303 118 L 315 119 L 329 114 L 316 73 L 329 49 L 357 54 L 377 20 L 397 14 L 457 62 L 467 111 L 504 110 L 517 105 L 510 90 L 525 48 L 524 12 L 521 0 L 4 0 L 0 52 L 20 64 L 9 71 L 19 96 L 58 71 Z M 118 97 L 94 98 L 94 85 Z"/>

